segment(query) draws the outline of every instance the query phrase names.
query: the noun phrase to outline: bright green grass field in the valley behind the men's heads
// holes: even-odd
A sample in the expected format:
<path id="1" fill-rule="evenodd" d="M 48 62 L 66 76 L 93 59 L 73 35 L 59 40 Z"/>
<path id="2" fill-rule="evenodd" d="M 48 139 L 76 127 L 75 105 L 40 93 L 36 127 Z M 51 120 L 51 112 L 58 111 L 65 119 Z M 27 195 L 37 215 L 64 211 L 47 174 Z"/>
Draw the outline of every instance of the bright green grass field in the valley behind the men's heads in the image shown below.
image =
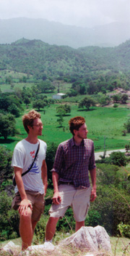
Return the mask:
<path id="1" fill-rule="evenodd" d="M 45 108 L 45 114 L 40 111 L 44 124 L 43 136 L 40 138 L 45 140 L 47 144 L 51 142 L 58 144 L 71 137 L 68 122 L 74 116 L 84 116 L 89 130 L 87 137 L 94 140 L 95 151 L 103 151 L 104 142 L 107 151 L 124 148 L 126 144 L 129 144 L 130 134 L 122 136 L 123 124 L 130 116 L 129 108 L 93 107 L 90 108 L 90 111 L 84 111 L 79 110 L 77 105 L 71 104 L 71 113 L 64 116 L 63 127 L 59 127 L 56 107 L 57 104 L 54 104 Z M 30 109 L 32 108 L 30 107 L 25 112 L 30 111 Z M 0 139 L 0 144 L 6 145 L 12 151 L 14 145 L 27 136 L 25 129 L 22 127 L 22 117 L 20 116 L 16 121 L 16 127 L 20 134 L 9 137 L 6 141 L 2 137 Z"/>

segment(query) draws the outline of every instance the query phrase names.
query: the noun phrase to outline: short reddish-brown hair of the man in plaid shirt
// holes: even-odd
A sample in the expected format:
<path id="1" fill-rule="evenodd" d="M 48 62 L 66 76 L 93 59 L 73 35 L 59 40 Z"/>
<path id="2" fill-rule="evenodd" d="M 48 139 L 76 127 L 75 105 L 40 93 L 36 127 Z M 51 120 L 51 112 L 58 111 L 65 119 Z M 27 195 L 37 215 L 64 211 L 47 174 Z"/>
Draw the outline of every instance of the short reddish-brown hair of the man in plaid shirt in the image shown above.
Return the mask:
<path id="1" fill-rule="evenodd" d="M 82 124 L 85 123 L 85 119 L 82 116 L 75 116 L 72 119 L 69 120 L 69 129 L 72 133 L 72 135 L 74 135 L 74 129 L 78 129 L 82 126 Z"/>

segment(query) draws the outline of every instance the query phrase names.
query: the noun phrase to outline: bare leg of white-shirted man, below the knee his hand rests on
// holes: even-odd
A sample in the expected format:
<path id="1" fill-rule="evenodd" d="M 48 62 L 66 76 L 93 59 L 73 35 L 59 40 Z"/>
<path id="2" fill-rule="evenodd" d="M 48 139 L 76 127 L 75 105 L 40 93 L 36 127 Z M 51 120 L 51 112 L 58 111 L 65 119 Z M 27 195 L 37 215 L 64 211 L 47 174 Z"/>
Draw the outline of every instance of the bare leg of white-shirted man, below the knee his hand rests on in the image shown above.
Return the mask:
<path id="1" fill-rule="evenodd" d="M 20 215 L 20 236 L 22 239 L 22 250 L 27 249 L 32 243 L 32 211 L 27 209 L 27 215 Z"/>

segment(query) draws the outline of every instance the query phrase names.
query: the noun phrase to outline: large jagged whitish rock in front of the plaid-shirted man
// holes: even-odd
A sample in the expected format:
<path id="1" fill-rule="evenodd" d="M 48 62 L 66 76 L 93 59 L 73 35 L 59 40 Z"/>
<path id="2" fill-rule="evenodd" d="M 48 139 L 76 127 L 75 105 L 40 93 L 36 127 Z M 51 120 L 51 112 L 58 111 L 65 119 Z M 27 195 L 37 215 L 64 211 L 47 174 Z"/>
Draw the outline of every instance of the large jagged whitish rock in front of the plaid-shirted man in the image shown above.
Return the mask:
<path id="1" fill-rule="evenodd" d="M 87 249 L 88 252 L 107 251 L 111 253 L 110 238 L 105 228 L 97 225 L 97 227 L 82 227 L 69 236 L 68 238 L 59 242 L 58 246 L 77 247 L 79 249 Z"/>

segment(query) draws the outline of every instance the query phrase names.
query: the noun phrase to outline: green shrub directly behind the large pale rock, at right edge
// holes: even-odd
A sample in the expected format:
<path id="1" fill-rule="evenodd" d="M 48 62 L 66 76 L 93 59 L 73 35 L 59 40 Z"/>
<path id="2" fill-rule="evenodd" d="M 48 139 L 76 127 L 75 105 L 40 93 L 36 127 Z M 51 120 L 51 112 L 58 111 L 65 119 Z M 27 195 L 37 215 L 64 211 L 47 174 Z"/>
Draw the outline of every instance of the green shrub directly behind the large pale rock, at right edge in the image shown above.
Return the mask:
<path id="1" fill-rule="evenodd" d="M 90 205 L 90 212 L 96 212 L 97 223 L 110 235 L 117 235 L 117 226 L 123 222 L 130 225 L 129 195 L 113 186 L 97 185 L 97 199 Z M 127 203 L 128 202 L 128 203 Z M 88 215 L 90 216 L 90 212 Z M 93 225 L 93 223 L 92 223 Z"/>

